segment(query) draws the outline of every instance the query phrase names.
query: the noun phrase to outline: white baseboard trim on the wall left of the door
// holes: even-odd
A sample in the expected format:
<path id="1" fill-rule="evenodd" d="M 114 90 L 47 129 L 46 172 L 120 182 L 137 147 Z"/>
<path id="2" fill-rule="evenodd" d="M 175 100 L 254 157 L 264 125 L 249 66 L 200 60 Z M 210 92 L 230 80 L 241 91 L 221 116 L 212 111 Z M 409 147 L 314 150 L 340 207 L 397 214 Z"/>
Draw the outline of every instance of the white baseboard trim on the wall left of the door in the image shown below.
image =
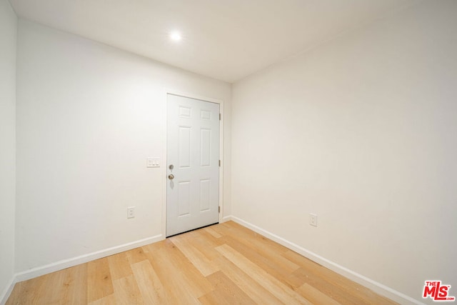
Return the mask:
<path id="1" fill-rule="evenodd" d="M 15 283 L 17 283 L 19 281 L 34 279 L 37 276 L 42 276 L 44 274 L 49 274 L 54 271 L 59 271 L 79 264 L 84 264 L 88 261 L 93 261 L 94 259 L 101 259 L 102 257 L 118 254 L 123 251 L 129 251 L 131 249 L 138 248 L 139 246 L 146 246 L 147 244 L 152 244 L 156 241 L 161 241 L 162 239 L 164 239 L 164 237 L 162 236 L 162 234 L 159 234 L 156 236 L 148 237 L 146 239 L 139 239 L 138 241 L 132 241 L 127 244 L 121 244 L 119 246 L 114 246 L 108 249 L 103 249 L 89 254 L 76 256 L 71 259 L 63 259 L 61 261 L 56 261 L 52 264 L 47 264 L 45 266 L 39 266 L 27 271 L 16 273 L 14 276 L 14 281 Z"/>

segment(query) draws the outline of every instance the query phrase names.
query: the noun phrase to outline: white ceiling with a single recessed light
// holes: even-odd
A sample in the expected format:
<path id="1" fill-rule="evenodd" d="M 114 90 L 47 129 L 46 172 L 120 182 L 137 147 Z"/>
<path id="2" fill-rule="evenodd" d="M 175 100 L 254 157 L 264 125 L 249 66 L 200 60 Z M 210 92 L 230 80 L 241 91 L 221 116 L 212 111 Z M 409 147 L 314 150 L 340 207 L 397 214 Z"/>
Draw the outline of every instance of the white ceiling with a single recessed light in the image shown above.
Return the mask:
<path id="1" fill-rule="evenodd" d="M 22 18 L 232 83 L 418 0 L 9 1 Z"/>

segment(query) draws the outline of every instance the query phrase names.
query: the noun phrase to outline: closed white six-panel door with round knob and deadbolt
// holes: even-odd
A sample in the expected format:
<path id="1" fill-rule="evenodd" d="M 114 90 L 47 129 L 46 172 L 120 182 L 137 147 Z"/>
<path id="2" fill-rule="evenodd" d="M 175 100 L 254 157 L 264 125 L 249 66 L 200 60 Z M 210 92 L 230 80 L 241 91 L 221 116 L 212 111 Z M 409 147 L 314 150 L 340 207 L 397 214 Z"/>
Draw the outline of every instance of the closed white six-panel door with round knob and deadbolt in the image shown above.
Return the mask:
<path id="1" fill-rule="evenodd" d="M 166 236 L 219 222 L 219 104 L 167 96 Z"/>

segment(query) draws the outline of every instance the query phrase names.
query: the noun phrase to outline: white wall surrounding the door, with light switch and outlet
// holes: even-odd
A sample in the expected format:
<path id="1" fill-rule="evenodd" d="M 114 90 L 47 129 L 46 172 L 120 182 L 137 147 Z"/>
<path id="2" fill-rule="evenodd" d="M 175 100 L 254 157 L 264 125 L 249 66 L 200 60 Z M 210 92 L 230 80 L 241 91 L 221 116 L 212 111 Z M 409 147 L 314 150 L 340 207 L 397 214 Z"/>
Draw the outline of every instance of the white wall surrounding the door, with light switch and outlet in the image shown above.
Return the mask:
<path id="1" fill-rule="evenodd" d="M 230 84 L 21 19 L 17 73 L 17 272 L 161 234 L 146 157 L 161 156 L 164 89 L 223 100 L 229 134 Z M 229 136 L 224 152 L 229 168 Z"/>

